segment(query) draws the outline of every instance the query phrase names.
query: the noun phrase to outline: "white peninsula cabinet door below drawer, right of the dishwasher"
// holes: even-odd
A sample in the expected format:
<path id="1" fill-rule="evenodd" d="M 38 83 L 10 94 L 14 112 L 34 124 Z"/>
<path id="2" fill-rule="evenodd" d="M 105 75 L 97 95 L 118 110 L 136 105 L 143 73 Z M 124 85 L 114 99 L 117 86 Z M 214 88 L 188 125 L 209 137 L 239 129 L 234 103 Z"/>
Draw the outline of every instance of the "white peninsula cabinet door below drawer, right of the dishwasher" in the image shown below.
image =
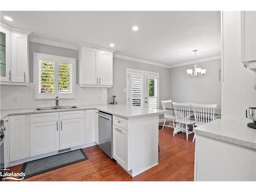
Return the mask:
<path id="1" fill-rule="evenodd" d="M 113 124 L 113 158 L 128 170 L 128 131 Z"/>

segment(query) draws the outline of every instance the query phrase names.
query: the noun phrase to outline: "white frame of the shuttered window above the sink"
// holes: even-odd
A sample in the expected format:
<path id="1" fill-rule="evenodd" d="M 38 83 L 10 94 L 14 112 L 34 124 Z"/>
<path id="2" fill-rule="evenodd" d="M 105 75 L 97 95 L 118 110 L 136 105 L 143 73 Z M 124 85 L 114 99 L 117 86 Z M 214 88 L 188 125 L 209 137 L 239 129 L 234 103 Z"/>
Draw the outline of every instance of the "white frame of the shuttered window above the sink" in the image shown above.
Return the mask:
<path id="1" fill-rule="evenodd" d="M 38 93 L 39 89 L 39 60 L 50 60 L 54 61 L 54 93 Z M 67 62 L 73 65 L 73 74 L 72 74 L 72 93 L 59 93 L 58 90 L 58 81 L 59 81 L 59 63 L 60 62 Z M 57 63 L 57 64 L 55 64 Z M 71 57 L 63 57 L 58 55 L 50 55 L 50 54 L 44 54 L 44 53 L 37 53 L 34 52 L 34 100 L 52 100 L 55 99 L 57 96 L 61 99 L 75 99 L 75 86 L 76 86 L 76 58 Z M 56 89 L 57 88 L 57 89 Z"/>

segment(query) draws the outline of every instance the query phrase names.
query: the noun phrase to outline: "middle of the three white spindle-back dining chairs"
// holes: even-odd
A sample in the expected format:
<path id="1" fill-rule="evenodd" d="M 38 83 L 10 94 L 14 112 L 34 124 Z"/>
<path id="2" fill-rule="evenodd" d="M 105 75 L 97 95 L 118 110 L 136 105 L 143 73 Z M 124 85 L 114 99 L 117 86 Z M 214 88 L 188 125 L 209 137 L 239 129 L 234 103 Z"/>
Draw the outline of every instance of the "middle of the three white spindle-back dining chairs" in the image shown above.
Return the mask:
<path id="1" fill-rule="evenodd" d="M 193 125 L 194 129 L 194 124 L 196 121 L 190 120 L 190 106 L 191 103 L 177 103 L 173 102 L 174 105 L 174 111 L 176 115 L 176 126 L 174 130 L 174 135 L 177 134 L 179 131 L 186 132 L 186 139 L 188 140 L 188 135 L 191 133 L 194 133 L 193 131 L 189 131 L 189 127 L 187 125 Z M 186 125 L 185 128 L 183 125 Z"/>

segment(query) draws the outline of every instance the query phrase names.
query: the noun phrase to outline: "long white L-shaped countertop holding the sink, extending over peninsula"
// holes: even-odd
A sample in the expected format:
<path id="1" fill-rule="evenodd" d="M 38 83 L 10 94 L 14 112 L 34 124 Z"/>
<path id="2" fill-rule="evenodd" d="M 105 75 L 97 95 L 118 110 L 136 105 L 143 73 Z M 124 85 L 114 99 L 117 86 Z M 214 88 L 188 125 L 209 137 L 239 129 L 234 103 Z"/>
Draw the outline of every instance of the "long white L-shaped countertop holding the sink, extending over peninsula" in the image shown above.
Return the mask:
<path id="1" fill-rule="evenodd" d="M 61 112 L 61 111 L 77 111 L 77 110 L 90 110 L 96 109 L 112 115 L 117 115 L 123 118 L 134 118 L 143 117 L 150 115 L 160 115 L 163 114 L 163 110 L 150 109 L 150 108 L 140 108 L 137 106 L 130 106 L 124 104 L 100 104 L 100 105 L 80 105 L 75 109 L 60 109 L 60 110 L 46 110 L 46 111 L 35 111 L 33 109 L 17 109 L 17 110 L 1 110 L 1 119 L 8 115 L 25 115 L 25 114 L 35 114 L 35 113 L 51 113 L 51 112 Z"/>

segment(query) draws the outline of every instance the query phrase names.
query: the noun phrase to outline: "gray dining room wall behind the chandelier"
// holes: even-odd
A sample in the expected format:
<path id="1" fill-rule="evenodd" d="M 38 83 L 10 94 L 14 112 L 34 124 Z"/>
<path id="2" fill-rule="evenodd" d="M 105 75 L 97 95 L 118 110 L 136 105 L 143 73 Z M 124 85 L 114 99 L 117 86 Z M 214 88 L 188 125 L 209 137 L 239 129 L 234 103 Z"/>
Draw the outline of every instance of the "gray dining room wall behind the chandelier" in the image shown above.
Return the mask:
<path id="1" fill-rule="evenodd" d="M 189 78 L 187 69 L 194 69 L 194 64 L 169 69 L 169 99 L 176 102 L 195 102 L 221 106 L 221 82 L 219 68 L 221 59 L 198 63 L 198 67 L 207 69 L 203 78 Z"/>

